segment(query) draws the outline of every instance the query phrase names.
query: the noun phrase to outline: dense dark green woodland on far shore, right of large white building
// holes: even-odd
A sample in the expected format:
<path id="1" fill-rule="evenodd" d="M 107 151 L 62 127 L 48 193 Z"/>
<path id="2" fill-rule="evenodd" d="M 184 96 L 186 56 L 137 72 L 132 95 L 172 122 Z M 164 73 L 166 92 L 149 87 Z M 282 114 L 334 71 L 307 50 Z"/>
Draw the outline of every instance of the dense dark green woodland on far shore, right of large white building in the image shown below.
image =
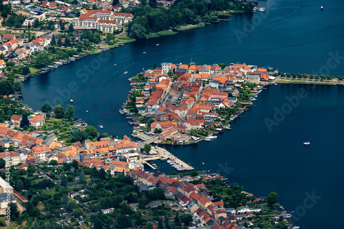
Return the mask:
<path id="1" fill-rule="evenodd" d="M 170 27 L 187 24 L 199 24 L 209 21 L 212 16 L 222 10 L 251 11 L 251 3 L 242 4 L 237 0 L 177 0 L 169 8 L 158 7 L 156 1 L 147 3 L 142 1 L 142 7 L 135 10 L 127 10 L 134 17 L 129 23 L 128 30 L 136 39 L 140 34 L 169 30 Z"/>

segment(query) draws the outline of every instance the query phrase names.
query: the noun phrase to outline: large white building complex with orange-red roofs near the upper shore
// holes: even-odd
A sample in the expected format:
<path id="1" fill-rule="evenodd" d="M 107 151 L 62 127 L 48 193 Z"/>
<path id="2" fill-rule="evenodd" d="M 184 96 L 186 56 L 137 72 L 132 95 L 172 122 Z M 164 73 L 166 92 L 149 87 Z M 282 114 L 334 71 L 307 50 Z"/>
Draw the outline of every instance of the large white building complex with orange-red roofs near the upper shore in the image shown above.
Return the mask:
<path id="1" fill-rule="evenodd" d="M 133 19 L 133 14 L 111 12 L 107 10 L 89 10 L 89 12 L 74 18 L 72 24 L 75 30 L 100 30 L 115 32 L 121 30 Z"/>

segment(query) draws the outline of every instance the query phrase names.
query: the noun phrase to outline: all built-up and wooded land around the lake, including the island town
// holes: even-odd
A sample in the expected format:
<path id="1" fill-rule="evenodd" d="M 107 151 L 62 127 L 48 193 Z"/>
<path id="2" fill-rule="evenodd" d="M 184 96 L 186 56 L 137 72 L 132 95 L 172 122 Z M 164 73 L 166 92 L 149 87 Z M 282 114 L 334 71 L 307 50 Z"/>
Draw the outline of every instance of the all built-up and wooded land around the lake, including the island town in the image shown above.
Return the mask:
<path id="1" fill-rule="evenodd" d="M 133 131 L 120 137 L 76 117 L 72 99 L 66 107 L 34 110 L 21 93 L 25 80 L 49 77 L 80 58 L 265 12 L 257 6 L 249 0 L 2 0 L 0 228 L 299 229 L 273 190 L 255 195 L 230 175 L 197 171 L 166 149 L 209 144 L 235 128 L 233 120 L 268 87 L 343 85 L 342 76 L 250 63 L 152 63 L 122 74 L 129 94 L 116 112 Z M 158 160 L 173 172 L 164 173 Z"/>

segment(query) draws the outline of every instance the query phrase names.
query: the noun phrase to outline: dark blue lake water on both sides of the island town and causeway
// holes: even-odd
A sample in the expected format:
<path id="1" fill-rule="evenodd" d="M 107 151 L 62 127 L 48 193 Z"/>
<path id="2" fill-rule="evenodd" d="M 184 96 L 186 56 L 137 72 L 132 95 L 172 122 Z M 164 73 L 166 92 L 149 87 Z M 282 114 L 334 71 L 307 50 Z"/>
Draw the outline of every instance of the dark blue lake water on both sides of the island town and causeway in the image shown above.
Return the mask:
<path id="1" fill-rule="evenodd" d="M 132 132 L 118 113 L 129 91 L 127 79 L 154 63 L 189 63 L 192 58 L 200 64 L 245 62 L 272 66 L 280 72 L 344 75 L 343 3 L 272 3 L 259 3 L 268 8 L 264 13 L 231 17 L 230 22 L 175 36 L 145 39 L 35 76 L 23 84 L 24 102 L 34 109 L 45 103 L 66 107 L 72 98 L 76 116 L 94 126 L 103 124 L 100 132 L 121 137 Z M 325 9 L 320 11 L 320 6 Z M 129 74 L 123 74 L 125 71 Z M 274 122 L 270 132 L 264 119 L 275 120 L 275 107 L 289 112 L 285 96 L 297 95 L 299 88 L 306 89 L 307 96 L 286 117 L 280 117 L 278 125 Z M 244 118 L 235 120 L 232 131 L 213 142 L 171 151 L 197 170 L 219 171 L 256 195 L 277 191 L 283 206 L 299 210 L 294 218 L 297 225 L 341 228 L 341 98 L 343 88 L 337 86 L 273 86 L 259 94 L 255 107 Z M 303 146 L 305 141 L 311 145 Z M 162 166 L 166 172 L 173 171 L 166 162 Z M 310 207 L 305 193 L 313 191 L 322 198 Z"/>

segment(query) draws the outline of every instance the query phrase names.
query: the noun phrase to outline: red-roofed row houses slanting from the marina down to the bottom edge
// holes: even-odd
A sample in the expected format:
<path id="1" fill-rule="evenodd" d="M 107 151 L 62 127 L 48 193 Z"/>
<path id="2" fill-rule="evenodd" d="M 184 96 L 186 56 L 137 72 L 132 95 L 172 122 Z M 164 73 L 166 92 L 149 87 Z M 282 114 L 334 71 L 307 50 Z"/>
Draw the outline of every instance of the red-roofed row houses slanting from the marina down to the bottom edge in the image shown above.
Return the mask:
<path id="1" fill-rule="evenodd" d="M 171 208 L 182 210 L 186 214 L 193 216 L 191 228 L 196 226 L 213 226 L 213 228 L 239 228 L 244 223 L 252 224 L 248 220 L 255 217 L 256 212 L 261 208 L 252 208 L 249 206 L 239 206 L 239 208 L 224 208 L 224 201 L 211 196 L 211 192 L 204 184 L 192 184 L 187 180 L 182 180 L 178 175 L 164 175 L 160 171 L 155 173 L 146 173 L 138 167 L 131 172 L 136 184 L 141 190 L 151 190 L 155 187 L 162 188 L 166 197 L 175 199 L 165 201 Z M 202 175 L 203 179 L 224 179 L 219 174 Z M 243 192 L 245 193 L 245 192 Z M 245 193 L 247 195 L 252 195 Z M 262 201 L 263 199 L 260 199 Z M 152 209 L 162 205 L 161 201 L 152 201 L 149 207 Z M 242 225 L 241 225 L 242 224 Z"/>

